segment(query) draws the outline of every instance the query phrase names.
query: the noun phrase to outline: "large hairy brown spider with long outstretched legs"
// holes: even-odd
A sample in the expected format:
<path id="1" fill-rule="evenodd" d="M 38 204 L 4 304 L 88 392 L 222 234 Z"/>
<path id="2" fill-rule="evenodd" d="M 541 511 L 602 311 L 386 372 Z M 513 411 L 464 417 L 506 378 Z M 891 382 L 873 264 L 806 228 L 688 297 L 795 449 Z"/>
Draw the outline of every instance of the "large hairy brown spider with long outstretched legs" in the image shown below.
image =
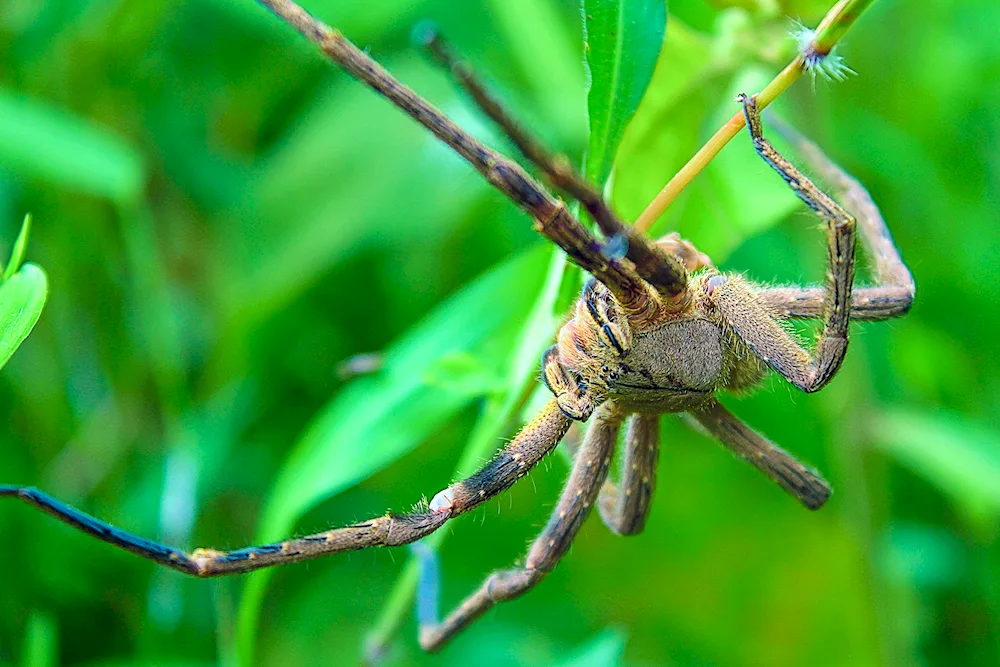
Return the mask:
<path id="1" fill-rule="evenodd" d="M 542 358 L 542 377 L 552 398 L 490 462 L 438 492 L 429 504 L 276 544 L 185 553 L 115 528 L 31 487 L 0 486 L 0 497 L 19 498 L 84 533 L 185 574 L 243 573 L 367 547 L 415 543 L 504 492 L 552 452 L 574 422 L 586 422 L 582 442 L 573 447 L 569 480 L 523 565 L 490 574 L 439 620 L 435 564 L 426 549 L 415 549 L 423 569 L 420 644 L 428 651 L 440 649 L 495 604 L 542 581 L 566 554 L 595 505 L 615 533 L 642 531 L 655 487 L 663 414 L 686 414 L 805 507 L 818 509 L 826 502 L 831 489 L 817 473 L 740 421 L 717 394 L 750 389 L 769 369 L 802 391 L 818 391 L 840 368 L 852 319 L 885 320 L 909 310 L 913 279 L 878 209 L 857 181 L 793 135 L 800 152 L 837 188 L 852 215 L 764 138 L 756 98 L 738 97 L 754 149 L 822 219 L 827 238 L 824 287 L 755 285 L 739 274 L 719 272 L 676 234 L 652 242 L 624 225 L 565 159 L 549 153 L 512 120 L 447 43 L 426 33 L 425 45 L 433 57 L 555 187 L 583 205 L 609 239 L 602 244 L 520 165 L 467 134 L 339 32 L 292 0 L 260 2 L 467 160 L 534 219 L 540 234 L 592 276 L 557 342 Z M 874 258 L 876 285 L 853 289 L 859 229 Z M 791 319 L 821 321 L 814 350 L 786 331 L 783 323 Z M 623 473 L 612 482 L 610 463 L 623 426 Z"/>

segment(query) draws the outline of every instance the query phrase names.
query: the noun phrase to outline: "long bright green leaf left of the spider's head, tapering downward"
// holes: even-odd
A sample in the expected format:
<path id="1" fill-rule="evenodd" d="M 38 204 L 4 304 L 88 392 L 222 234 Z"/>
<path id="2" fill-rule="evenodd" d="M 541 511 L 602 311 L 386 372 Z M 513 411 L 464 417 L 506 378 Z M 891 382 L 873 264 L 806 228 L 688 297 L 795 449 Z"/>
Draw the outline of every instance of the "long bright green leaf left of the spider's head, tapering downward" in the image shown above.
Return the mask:
<path id="1" fill-rule="evenodd" d="M 480 360 L 466 372 L 499 376 L 527 317 L 524 295 L 544 279 L 548 252 L 536 247 L 495 267 L 439 306 L 385 352 L 382 370 L 351 382 L 313 421 L 282 469 L 258 539 L 291 533 L 317 503 L 350 488 L 430 437 L 486 391 L 455 377 L 468 353 Z M 441 382 L 442 369 L 453 376 Z M 428 382 L 431 378 L 434 381 Z M 253 575 L 240 601 L 237 643 L 249 662 L 269 572 Z"/>

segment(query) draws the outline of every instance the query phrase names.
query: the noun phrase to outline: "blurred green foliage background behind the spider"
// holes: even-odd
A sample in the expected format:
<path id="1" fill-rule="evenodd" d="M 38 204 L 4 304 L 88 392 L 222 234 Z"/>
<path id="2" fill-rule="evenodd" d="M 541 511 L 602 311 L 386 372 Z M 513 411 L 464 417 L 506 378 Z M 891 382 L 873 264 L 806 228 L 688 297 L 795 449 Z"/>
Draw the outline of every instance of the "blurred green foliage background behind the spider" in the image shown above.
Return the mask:
<path id="1" fill-rule="evenodd" d="M 788 17 L 815 25 L 828 6 L 671 3 L 616 162 L 624 216 L 787 62 Z M 509 150 L 411 44 L 434 19 L 579 159 L 576 0 L 308 8 Z M 822 511 L 665 419 L 645 533 L 592 518 L 544 584 L 428 658 L 387 602 L 404 549 L 282 568 L 248 593 L 5 502 L 0 664 L 355 664 L 394 617 L 390 665 L 998 664 L 998 28 L 994 0 L 879 0 L 841 49 L 858 76 L 804 79 L 775 106 L 869 187 L 917 282 L 906 318 L 855 326 L 822 393 L 772 379 L 726 399 L 826 474 Z M 27 211 L 51 294 L 0 372 L 0 483 L 181 546 L 433 495 L 475 455 L 470 433 L 512 435 L 516 381 L 556 322 L 538 304 L 564 301 L 523 214 L 249 0 L 0 5 L 0 255 Z M 743 136 L 654 231 L 673 229 L 726 270 L 823 277 L 815 220 Z M 381 351 L 383 370 L 338 375 Z M 445 605 L 521 557 L 566 470 L 554 456 L 445 529 Z"/>

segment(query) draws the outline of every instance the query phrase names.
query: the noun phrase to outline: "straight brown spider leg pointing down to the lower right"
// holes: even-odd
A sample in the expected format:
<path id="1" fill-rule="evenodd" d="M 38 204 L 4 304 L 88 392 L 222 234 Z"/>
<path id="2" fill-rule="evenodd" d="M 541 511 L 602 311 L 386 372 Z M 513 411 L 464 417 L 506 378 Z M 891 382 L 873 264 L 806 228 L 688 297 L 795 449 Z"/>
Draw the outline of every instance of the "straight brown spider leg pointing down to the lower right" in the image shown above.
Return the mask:
<path id="1" fill-rule="evenodd" d="M 815 510 L 830 497 L 830 485 L 770 440 L 744 424 L 718 401 L 690 413 L 734 454 L 754 466 L 781 488 Z"/>

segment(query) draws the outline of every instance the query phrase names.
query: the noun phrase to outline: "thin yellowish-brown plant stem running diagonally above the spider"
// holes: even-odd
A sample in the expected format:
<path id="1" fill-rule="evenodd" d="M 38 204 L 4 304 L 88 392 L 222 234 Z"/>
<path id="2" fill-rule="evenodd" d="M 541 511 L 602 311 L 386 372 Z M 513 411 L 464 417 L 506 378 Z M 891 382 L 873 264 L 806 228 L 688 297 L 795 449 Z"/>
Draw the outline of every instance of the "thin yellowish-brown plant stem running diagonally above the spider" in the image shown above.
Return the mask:
<path id="1" fill-rule="evenodd" d="M 868 8 L 874 0 L 840 0 L 833 8 L 827 12 L 820 22 L 809 45 L 803 49 L 805 53 L 823 57 L 833 50 L 844 33 L 854 25 L 858 17 Z M 781 70 L 771 83 L 757 95 L 757 106 L 761 109 L 773 102 L 781 93 L 785 92 L 796 79 L 798 79 L 805 67 L 806 57 L 799 53 L 792 62 L 788 63 L 785 69 Z M 673 203 L 677 195 L 686 188 L 694 177 L 704 169 L 712 159 L 719 154 L 726 144 L 743 129 L 745 121 L 743 112 L 738 111 L 733 117 L 726 121 L 719 130 L 712 135 L 704 146 L 694 154 L 687 164 L 674 175 L 670 181 L 663 186 L 659 194 L 649 203 L 638 218 L 635 220 L 635 227 L 641 232 L 648 232 L 667 207 Z"/>

